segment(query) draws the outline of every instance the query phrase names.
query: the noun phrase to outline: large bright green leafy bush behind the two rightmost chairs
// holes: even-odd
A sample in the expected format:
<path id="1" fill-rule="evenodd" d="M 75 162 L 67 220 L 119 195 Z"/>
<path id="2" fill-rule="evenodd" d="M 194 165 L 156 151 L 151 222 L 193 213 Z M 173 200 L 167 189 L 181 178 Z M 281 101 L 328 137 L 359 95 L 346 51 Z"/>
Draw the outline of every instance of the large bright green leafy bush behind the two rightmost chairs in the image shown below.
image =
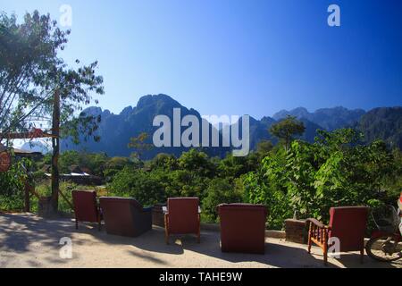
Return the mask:
<path id="1" fill-rule="evenodd" d="M 400 167 L 382 141 L 363 145 L 350 129 L 319 134 L 314 144 L 296 140 L 265 157 L 246 176 L 247 200 L 269 207 L 274 228 L 293 212 L 328 222 L 331 206 L 394 204 L 394 190 L 385 186 Z"/>

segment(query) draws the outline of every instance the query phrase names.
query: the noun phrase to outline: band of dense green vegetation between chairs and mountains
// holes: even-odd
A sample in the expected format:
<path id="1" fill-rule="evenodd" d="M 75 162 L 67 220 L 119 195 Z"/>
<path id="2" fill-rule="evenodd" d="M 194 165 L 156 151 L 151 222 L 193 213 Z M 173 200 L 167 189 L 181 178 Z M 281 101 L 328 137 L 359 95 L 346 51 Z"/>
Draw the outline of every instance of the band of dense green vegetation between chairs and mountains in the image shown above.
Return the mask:
<path id="1" fill-rule="evenodd" d="M 217 221 L 217 205 L 230 202 L 264 204 L 272 229 L 281 229 L 284 220 L 294 214 L 325 222 L 331 206 L 375 208 L 395 203 L 402 188 L 402 154 L 398 148 L 390 149 L 381 140 L 364 144 L 361 134 L 352 129 L 321 130 L 319 134 L 314 143 L 293 139 L 287 148 L 285 141 L 274 147 L 263 141 L 246 157 L 228 154 L 220 159 L 191 149 L 180 157 L 161 153 L 139 162 L 134 157 L 69 151 L 63 153 L 60 164 L 65 171 L 71 164 L 88 167 L 105 177 L 104 195 L 137 198 L 146 206 L 163 203 L 169 197 L 197 196 L 207 222 Z M 46 156 L 36 168 L 48 160 Z M 13 172 L 17 170 L 0 174 L 1 182 L 14 178 Z M 38 183 L 42 193 L 46 193 L 44 184 L 46 181 Z M 1 187 L 7 193 L 0 196 L 0 207 L 18 208 L 18 203 L 10 201 L 22 204 L 20 181 L 13 179 Z M 63 192 L 70 198 L 74 188 L 78 187 L 64 183 Z"/>

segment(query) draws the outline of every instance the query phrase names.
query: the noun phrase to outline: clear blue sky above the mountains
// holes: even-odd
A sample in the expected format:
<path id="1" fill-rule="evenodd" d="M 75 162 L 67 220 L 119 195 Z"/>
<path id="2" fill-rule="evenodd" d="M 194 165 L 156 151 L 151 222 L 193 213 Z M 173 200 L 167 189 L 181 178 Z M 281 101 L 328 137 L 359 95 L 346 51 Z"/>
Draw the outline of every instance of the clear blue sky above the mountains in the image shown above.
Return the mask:
<path id="1" fill-rule="evenodd" d="M 72 8 L 63 57 L 99 61 L 100 106 L 119 113 L 164 93 L 200 114 L 402 104 L 402 1 L 4 1 L 59 20 Z M 327 25 L 339 4 L 341 26 Z"/>

